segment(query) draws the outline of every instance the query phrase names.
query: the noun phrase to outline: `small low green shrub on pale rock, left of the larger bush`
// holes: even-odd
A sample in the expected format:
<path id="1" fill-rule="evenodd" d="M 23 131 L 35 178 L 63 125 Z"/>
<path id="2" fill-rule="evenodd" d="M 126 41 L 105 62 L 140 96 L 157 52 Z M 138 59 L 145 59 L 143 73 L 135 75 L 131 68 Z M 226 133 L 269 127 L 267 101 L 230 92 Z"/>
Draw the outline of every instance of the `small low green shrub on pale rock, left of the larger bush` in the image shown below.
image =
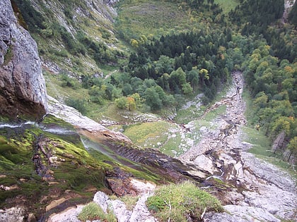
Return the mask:
<path id="1" fill-rule="evenodd" d="M 112 212 L 105 214 L 103 209 L 101 209 L 95 202 L 91 202 L 83 207 L 81 214 L 78 214 L 78 219 L 81 221 L 93 221 L 96 219 L 108 222 L 117 221 L 115 214 L 112 214 Z"/>

